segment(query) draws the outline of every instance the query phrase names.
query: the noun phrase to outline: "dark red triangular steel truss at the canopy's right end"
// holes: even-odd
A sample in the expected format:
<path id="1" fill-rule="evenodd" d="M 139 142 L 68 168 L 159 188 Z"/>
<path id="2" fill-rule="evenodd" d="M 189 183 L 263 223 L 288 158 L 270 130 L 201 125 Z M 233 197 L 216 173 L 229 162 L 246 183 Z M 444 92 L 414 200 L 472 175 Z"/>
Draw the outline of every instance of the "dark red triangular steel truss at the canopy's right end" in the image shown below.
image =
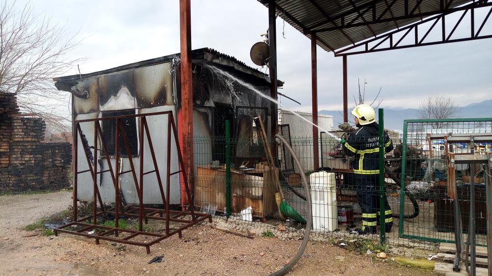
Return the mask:
<path id="1" fill-rule="evenodd" d="M 475 18 L 475 9 L 477 8 L 488 8 L 490 7 L 487 15 L 484 20 L 481 22 L 477 22 Z M 449 33 L 446 31 L 446 17 L 450 14 L 461 11 L 462 14 L 459 17 L 456 24 L 454 24 L 453 28 Z M 482 29 L 485 24 L 488 22 L 490 16 L 492 14 L 492 1 L 477 1 L 465 6 L 448 9 L 446 12 L 432 16 L 425 20 L 419 21 L 418 23 L 399 28 L 397 30 L 391 31 L 389 33 L 376 36 L 375 38 L 354 44 L 353 46 L 344 48 L 342 50 L 335 51 L 335 56 L 344 56 L 344 55 L 357 55 L 363 53 L 374 53 L 395 49 L 404 49 L 404 48 L 412 48 L 419 46 L 427 46 L 427 45 L 437 45 L 437 44 L 445 44 L 459 41 L 469 41 L 469 40 L 477 40 L 484 38 L 492 38 L 492 34 L 481 35 Z M 466 15 L 469 15 L 469 25 L 470 25 L 470 33 L 466 37 L 453 38 L 453 34 L 455 30 L 464 23 Z M 440 23 L 440 24 L 438 24 Z M 478 29 L 475 29 L 476 23 L 479 23 Z M 449 23 L 448 23 L 449 24 Z M 430 26 L 428 26 L 430 25 Z M 429 41 L 428 34 L 438 28 L 436 26 L 440 25 L 441 28 L 441 39 Z M 424 35 L 419 35 L 419 33 L 423 33 Z M 406 37 L 414 37 L 410 43 L 402 44 L 401 42 Z M 386 42 L 386 43 L 385 43 Z M 362 49 L 360 49 L 362 48 Z"/>

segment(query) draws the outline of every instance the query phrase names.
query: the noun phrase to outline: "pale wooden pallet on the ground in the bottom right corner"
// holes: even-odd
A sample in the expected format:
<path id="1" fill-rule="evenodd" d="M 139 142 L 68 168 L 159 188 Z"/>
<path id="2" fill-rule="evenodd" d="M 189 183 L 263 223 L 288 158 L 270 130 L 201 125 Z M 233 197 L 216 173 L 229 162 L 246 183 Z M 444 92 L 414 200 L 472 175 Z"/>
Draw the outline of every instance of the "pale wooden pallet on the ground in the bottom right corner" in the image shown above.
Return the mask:
<path id="1" fill-rule="evenodd" d="M 466 273 L 466 268 L 464 266 L 464 263 L 462 262 L 460 265 L 460 271 L 459 272 L 454 272 L 453 271 L 453 263 L 455 261 L 455 253 L 456 253 L 456 245 L 455 244 L 449 244 L 449 243 L 441 243 L 439 245 L 439 252 L 437 253 L 437 260 L 440 260 L 441 262 L 436 262 L 434 271 L 438 273 L 445 274 L 446 276 L 463 276 L 463 275 L 468 275 Z M 476 264 L 484 267 L 477 267 L 476 268 L 476 273 L 477 276 L 488 276 L 489 275 L 489 270 L 487 269 L 488 266 L 488 259 L 487 259 L 487 248 L 486 247 L 476 247 L 476 254 L 477 257 L 475 258 Z M 470 257 L 468 256 L 468 260 L 470 260 Z"/>

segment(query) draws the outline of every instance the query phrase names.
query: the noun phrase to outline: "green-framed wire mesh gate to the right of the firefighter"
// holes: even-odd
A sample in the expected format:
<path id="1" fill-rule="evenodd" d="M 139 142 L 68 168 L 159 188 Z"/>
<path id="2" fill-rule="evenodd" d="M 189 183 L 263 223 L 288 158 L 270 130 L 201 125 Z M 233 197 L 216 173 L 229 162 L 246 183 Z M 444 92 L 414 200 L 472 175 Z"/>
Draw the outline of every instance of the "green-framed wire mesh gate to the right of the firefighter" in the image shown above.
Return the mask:
<path id="1" fill-rule="evenodd" d="M 486 132 L 492 132 L 492 118 L 404 120 L 400 191 L 406 187 L 409 190 L 408 193 L 412 193 L 418 199 L 420 213 L 416 218 L 404 219 L 405 208 L 408 207 L 404 203 L 405 193 L 400 193 L 398 220 L 400 238 L 427 242 L 455 242 L 453 205 L 447 195 L 445 185 L 447 166 L 443 158 L 444 144 L 440 141 L 429 142 L 427 137 L 431 134 Z M 491 147 L 491 144 L 479 144 L 477 150 L 491 151 Z M 459 144 L 455 152 L 459 154 L 469 152 L 469 150 L 470 144 Z M 470 196 L 467 171 L 469 168 L 462 166 L 456 173 L 457 196 L 461 206 L 464 233 L 468 225 L 469 209 L 467 206 L 469 206 Z M 480 173 L 476 177 L 479 179 L 478 182 L 483 182 Z M 477 245 L 486 245 L 485 185 L 477 184 L 476 187 Z"/>

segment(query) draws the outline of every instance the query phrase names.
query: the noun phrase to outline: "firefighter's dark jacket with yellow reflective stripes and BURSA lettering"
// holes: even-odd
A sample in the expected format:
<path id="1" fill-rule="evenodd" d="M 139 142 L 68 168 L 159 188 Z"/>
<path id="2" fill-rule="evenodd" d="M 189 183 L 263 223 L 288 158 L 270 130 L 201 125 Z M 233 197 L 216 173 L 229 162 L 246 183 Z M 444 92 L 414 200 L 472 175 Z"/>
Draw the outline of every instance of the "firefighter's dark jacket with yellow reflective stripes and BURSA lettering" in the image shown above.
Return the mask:
<path id="1" fill-rule="evenodd" d="M 393 150 L 393 142 L 384 132 L 385 153 Z M 352 168 L 357 174 L 379 173 L 379 126 L 377 123 L 362 126 L 353 131 L 343 145 L 348 156 L 354 156 Z"/>

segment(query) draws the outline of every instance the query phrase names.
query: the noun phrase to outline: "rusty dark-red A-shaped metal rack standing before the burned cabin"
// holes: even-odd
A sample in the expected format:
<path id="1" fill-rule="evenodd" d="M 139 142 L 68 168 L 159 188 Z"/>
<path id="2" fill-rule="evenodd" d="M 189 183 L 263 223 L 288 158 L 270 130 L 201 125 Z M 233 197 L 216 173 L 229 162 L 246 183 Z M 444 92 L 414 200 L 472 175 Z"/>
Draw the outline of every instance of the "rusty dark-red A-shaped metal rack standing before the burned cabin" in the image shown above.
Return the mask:
<path id="1" fill-rule="evenodd" d="M 154 152 L 154 145 L 152 143 L 152 139 L 150 136 L 150 131 L 149 127 L 147 124 L 147 116 L 153 116 L 153 115 L 167 115 L 167 155 L 166 155 L 166 166 L 167 166 L 167 171 L 166 171 L 166 191 L 164 194 L 164 188 L 163 188 L 163 183 L 161 180 L 161 174 L 159 172 L 159 167 L 157 165 L 157 158 Z M 135 164 L 133 163 L 132 156 L 131 156 L 131 149 L 130 149 L 130 144 L 128 141 L 128 137 L 126 135 L 125 129 L 123 127 L 123 124 L 121 122 L 121 119 L 123 118 L 138 118 L 139 126 L 138 126 L 138 137 L 139 137 L 139 174 L 137 176 L 137 173 L 135 171 Z M 106 147 L 106 142 L 104 141 L 104 136 L 102 134 L 102 129 L 100 127 L 100 121 L 103 120 L 115 120 L 116 125 L 115 125 L 115 171 L 113 171 L 113 167 L 111 165 L 111 161 L 109 158 L 109 154 L 107 151 Z M 84 138 L 84 134 L 82 132 L 82 129 L 80 128 L 81 123 L 89 123 L 93 122 L 94 123 L 94 165 L 91 162 L 91 158 L 89 156 L 90 148 L 89 145 L 86 143 L 82 143 L 83 145 L 83 150 L 84 154 L 87 160 L 87 164 L 89 166 L 89 169 L 78 171 L 78 143 L 77 140 L 78 138 Z M 187 229 L 188 227 L 191 227 L 201 221 L 204 221 L 206 219 L 209 220 L 209 222 L 212 222 L 212 216 L 210 214 L 204 214 L 204 213 L 197 213 L 193 210 L 193 208 L 190 208 L 189 211 L 174 211 L 170 210 L 170 204 L 169 204 L 169 190 L 170 190 L 170 176 L 173 174 L 177 173 L 182 173 L 182 181 L 184 182 L 184 187 L 185 187 L 185 196 L 188 202 L 191 203 L 190 206 L 193 206 L 193 197 L 192 193 L 190 191 L 189 185 L 188 185 L 188 177 L 187 177 L 187 172 L 186 172 L 186 167 L 184 166 L 183 162 L 183 157 L 181 154 L 181 149 L 180 145 L 178 142 L 178 132 L 176 129 L 176 124 L 174 123 L 174 118 L 172 115 L 172 111 L 161 111 L 161 112 L 152 112 L 152 113 L 144 113 L 144 114 L 131 114 L 131 115 L 120 115 L 120 116 L 110 116 L 110 117 L 104 117 L 104 118 L 95 118 L 95 119 L 85 119 L 85 120 L 76 120 L 74 122 L 74 134 L 73 134 L 73 147 L 74 147 L 74 166 L 73 166 L 73 222 L 65 224 L 63 226 L 60 226 L 58 228 L 55 228 L 55 235 L 58 236 L 59 233 L 69 233 L 73 235 L 79 235 L 79 236 L 84 236 L 88 238 L 94 238 L 96 240 L 96 244 L 99 244 L 99 240 L 106 240 L 106 241 L 112 241 L 112 242 L 118 242 L 118 243 L 123 243 L 123 244 L 129 244 L 129 245 L 134 245 L 134 246 L 143 246 L 146 248 L 147 253 L 150 253 L 150 246 L 159 243 L 160 241 L 164 240 L 167 237 L 170 237 L 174 234 L 178 234 L 178 236 L 181 238 L 182 236 L 182 231 Z M 176 143 L 176 148 L 178 152 L 178 161 L 180 164 L 180 168 L 178 171 L 175 172 L 170 172 L 170 161 L 171 161 L 171 131 L 172 135 L 174 135 L 174 140 Z M 145 133 L 145 135 L 144 135 Z M 119 167 L 119 155 L 120 155 L 120 137 L 123 140 L 123 143 L 125 145 L 125 151 L 128 154 L 128 160 L 130 163 L 130 170 L 119 172 L 118 167 Z M 100 138 L 100 140 L 99 140 Z M 149 144 L 149 151 L 152 156 L 152 161 L 154 165 L 154 170 L 144 172 L 143 171 L 143 153 L 144 153 L 144 141 L 145 138 L 147 138 L 147 142 Z M 106 170 L 101 170 L 98 171 L 98 166 L 96 166 L 96 160 L 98 160 L 98 144 L 100 143 L 102 147 L 102 152 L 104 154 L 104 157 L 106 159 L 108 169 Z M 92 215 L 84 217 L 84 218 L 78 218 L 77 215 L 77 188 L 78 188 L 78 175 L 80 173 L 86 173 L 90 172 L 92 176 L 92 184 L 93 184 L 93 189 L 94 189 L 94 197 L 93 197 L 93 202 L 94 202 L 94 208 Z M 99 189 L 98 189 L 98 174 L 102 174 L 105 172 L 110 172 L 111 174 L 111 180 L 113 182 L 113 186 L 115 189 L 115 207 L 106 209 L 104 203 L 102 202 Z M 120 200 L 120 181 L 119 181 L 119 176 L 125 173 L 131 172 L 133 181 L 135 183 L 135 189 L 138 195 L 138 205 L 134 206 L 132 204 L 124 206 Z M 161 193 L 161 197 L 163 200 L 163 209 L 159 208 L 147 208 L 144 206 L 144 200 L 143 200 L 143 189 L 144 189 L 144 175 L 150 174 L 150 173 L 155 173 L 157 182 L 159 184 L 159 190 Z M 100 206 L 100 211 L 98 211 L 98 203 Z M 111 226 L 106 226 L 106 225 L 99 225 L 98 224 L 98 217 L 102 217 L 104 215 L 111 214 L 114 215 L 115 218 L 115 227 Z M 165 216 L 164 216 L 165 214 Z M 138 218 L 138 230 L 131 230 L 131 229 L 124 229 L 119 227 L 119 218 L 120 216 L 125 216 L 125 217 L 133 217 L 133 218 Z M 190 219 L 185 219 L 186 216 L 191 216 Z M 180 218 L 181 217 L 181 218 Z M 154 233 L 154 232 L 145 232 L 143 231 L 143 222 L 148 223 L 148 220 L 160 220 L 160 221 L 165 221 L 165 233 Z M 169 229 L 169 221 L 172 222 L 179 222 L 183 223 L 184 225 L 181 225 L 177 229 Z M 80 229 L 73 229 L 73 227 L 81 227 Z M 98 231 L 102 230 L 103 232 L 98 233 Z M 89 232 L 94 231 L 92 234 L 89 234 Z M 120 234 L 129 234 L 125 237 L 119 237 Z M 155 239 L 151 239 L 150 241 L 135 241 L 132 240 L 137 236 L 147 236 L 147 237 L 154 237 Z"/>

